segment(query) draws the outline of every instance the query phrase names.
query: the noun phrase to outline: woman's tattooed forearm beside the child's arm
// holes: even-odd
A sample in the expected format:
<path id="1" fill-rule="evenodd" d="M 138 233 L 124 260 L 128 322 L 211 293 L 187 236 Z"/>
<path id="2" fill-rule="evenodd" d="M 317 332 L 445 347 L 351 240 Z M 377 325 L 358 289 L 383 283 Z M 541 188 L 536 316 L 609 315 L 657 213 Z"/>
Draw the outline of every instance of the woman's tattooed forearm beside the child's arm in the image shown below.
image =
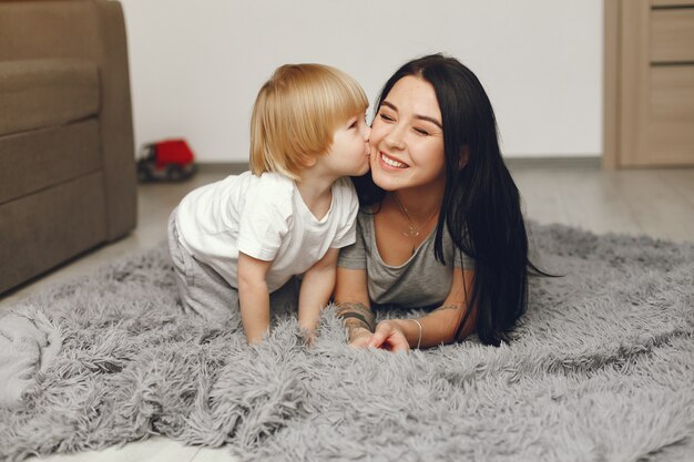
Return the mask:
<path id="1" fill-rule="evenodd" d="M 349 343 L 366 346 L 376 326 L 370 308 L 366 269 L 337 268 L 334 294 L 337 316 L 348 329 Z"/>

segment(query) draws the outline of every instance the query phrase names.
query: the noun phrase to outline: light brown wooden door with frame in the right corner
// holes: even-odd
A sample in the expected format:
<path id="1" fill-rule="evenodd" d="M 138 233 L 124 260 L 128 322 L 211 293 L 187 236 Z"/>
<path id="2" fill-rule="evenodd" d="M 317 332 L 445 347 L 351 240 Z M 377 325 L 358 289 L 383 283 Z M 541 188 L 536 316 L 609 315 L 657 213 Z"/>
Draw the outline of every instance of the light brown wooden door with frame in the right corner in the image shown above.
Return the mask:
<path id="1" fill-rule="evenodd" d="M 604 165 L 694 165 L 694 0 L 605 0 Z"/>

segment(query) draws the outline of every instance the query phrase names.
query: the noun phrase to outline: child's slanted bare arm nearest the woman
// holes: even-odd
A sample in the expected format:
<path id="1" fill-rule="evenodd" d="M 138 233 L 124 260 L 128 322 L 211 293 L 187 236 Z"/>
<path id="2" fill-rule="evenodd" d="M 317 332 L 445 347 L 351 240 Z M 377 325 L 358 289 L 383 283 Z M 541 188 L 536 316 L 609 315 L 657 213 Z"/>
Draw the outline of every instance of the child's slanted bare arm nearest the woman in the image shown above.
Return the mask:
<path id="1" fill-rule="evenodd" d="M 339 248 L 329 248 L 325 256 L 308 268 L 299 290 L 299 328 L 315 332 L 320 310 L 330 300 Z"/>

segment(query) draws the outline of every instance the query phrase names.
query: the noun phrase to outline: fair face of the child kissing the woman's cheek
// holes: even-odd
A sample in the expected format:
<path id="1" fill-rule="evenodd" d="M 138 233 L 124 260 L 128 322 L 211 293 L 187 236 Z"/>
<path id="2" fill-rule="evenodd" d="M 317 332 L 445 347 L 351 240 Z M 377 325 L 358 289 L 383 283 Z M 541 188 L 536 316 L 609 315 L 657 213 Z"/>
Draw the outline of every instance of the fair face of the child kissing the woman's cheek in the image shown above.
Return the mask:
<path id="1" fill-rule="evenodd" d="M 369 134 L 364 114 L 355 115 L 339 125 L 333 144 L 322 163 L 336 176 L 360 176 L 369 171 Z"/>

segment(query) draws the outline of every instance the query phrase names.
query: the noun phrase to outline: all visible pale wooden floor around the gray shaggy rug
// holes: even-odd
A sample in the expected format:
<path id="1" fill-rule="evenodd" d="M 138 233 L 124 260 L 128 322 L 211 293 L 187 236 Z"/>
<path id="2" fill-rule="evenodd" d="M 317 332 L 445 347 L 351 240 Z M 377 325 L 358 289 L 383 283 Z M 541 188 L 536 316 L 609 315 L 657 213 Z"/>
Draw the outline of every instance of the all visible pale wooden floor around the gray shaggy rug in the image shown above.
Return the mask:
<path id="1" fill-rule="evenodd" d="M 509 161 L 523 197 L 525 216 L 540 223 L 561 223 L 595 233 L 645 234 L 676 242 L 694 242 L 694 168 L 603 171 L 599 161 Z M 181 184 L 141 185 L 137 228 L 124 239 L 90 251 L 0 298 L 0 310 L 49 284 L 79 277 L 112 257 L 147 249 L 166 234 L 166 218 L 194 187 L 237 173 L 228 166 L 203 166 Z M 225 449 L 200 449 L 157 438 L 121 449 L 54 455 L 48 461 L 234 461 Z"/>

